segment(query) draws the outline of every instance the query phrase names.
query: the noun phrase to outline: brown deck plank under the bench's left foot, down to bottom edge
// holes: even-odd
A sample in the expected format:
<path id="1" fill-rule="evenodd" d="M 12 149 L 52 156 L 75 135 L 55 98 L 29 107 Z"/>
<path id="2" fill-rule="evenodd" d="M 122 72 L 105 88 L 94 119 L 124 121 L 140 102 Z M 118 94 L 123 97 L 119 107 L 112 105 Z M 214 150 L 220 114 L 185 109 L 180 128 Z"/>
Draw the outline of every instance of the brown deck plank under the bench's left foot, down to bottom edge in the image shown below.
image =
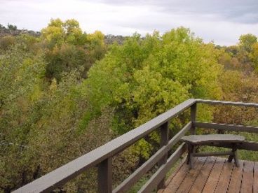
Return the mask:
<path id="1" fill-rule="evenodd" d="M 196 164 L 194 164 L 194 169 L 189 170 L 186 178 L 184 178 L 181 185 L 179 185 L 177 192 L 189 192 L 191 186 L 194 184 L 198 174 L 203 169 L 203 166 L 208 158 L 207 157 L 196 157 Z"/>

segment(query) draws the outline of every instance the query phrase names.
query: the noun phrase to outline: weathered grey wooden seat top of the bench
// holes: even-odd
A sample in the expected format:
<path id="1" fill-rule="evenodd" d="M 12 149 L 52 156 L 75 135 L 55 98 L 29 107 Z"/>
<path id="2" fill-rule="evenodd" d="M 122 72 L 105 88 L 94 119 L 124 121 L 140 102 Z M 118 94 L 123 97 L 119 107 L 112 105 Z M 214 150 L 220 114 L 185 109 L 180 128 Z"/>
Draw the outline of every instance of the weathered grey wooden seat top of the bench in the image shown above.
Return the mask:
<path id="1" fill-rule="evenodd" d="M 182 141 L 194 145 L 204 143 L 242 143 L 245 137 L 231 134 L 210 134 L 210 135 L 191 135 L 183 136 Z"/>

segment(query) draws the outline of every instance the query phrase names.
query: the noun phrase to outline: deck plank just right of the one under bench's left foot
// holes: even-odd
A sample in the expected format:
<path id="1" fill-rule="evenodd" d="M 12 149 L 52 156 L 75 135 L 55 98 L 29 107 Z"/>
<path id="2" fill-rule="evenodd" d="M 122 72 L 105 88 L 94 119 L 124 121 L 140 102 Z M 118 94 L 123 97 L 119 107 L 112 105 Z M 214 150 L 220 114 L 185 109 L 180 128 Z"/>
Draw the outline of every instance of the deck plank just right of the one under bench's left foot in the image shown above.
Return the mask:
<path id="1" fill-rule="evenodd" d="M 213 166 L 215 165 L 216 158 L 214 157 L 208 157 L 206 160 L 203 169 L 199 173 L 198 177 L 196 178 L 194 185 L 192 185 L 190 193 L 197 193 L 202 192 L 203 188 L 205 186 L 206 181 L 208 180 L 210 176 L 210 172 L 213 169 Z"/>

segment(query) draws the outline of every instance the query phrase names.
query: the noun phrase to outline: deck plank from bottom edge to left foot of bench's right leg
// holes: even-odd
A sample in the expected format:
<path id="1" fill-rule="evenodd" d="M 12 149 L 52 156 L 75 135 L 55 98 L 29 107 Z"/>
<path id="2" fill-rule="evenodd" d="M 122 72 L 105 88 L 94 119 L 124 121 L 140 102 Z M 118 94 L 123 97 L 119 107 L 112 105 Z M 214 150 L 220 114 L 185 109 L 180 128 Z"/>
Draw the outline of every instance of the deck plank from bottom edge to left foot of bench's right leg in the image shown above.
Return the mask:
<path id="1" fill-rule="evenodd" d="M 219 176 L 219 182 L 216 187 L 215 193 L 227 192 L 233 167 L 234 165 L 232 163 L 225 162 L 222 173 Z"/>

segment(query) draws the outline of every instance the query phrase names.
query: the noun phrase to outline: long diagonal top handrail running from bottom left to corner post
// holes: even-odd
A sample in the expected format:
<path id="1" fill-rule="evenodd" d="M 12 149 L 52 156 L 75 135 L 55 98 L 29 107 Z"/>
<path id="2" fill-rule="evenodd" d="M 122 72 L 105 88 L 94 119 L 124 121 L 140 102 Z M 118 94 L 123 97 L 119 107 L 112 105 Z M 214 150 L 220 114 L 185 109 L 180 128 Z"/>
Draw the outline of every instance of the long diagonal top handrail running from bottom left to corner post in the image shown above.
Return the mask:
<path id="1" fill-rule="evenodd" d="M 158 115 L 149 122 L 142 124 L 140 127 L 118 136 L 118 138 L 114 138 L 112 141 L 74 159 L 72 162 L 60 166 L 60 168 L 32 181 L 32 183 L 20 187 L 14 192 L 49 192 L 54 190 L 55 187 L 67 183 L 67 181 L 75 178 L 86 169 L 100 164 L 104 159 L 112 157 L 125 148 L 128 148 L 130 145 L 133 145 L 133 143 L 139 141 L 141 138 L 151 133 L 151 131 L 154 131 L 154 129 L 157 129 L 165 122 L 179 115 L 179 113 L 182 113 L 195 102 L 195 99 L 188 99 L 167 112 Z"/>

